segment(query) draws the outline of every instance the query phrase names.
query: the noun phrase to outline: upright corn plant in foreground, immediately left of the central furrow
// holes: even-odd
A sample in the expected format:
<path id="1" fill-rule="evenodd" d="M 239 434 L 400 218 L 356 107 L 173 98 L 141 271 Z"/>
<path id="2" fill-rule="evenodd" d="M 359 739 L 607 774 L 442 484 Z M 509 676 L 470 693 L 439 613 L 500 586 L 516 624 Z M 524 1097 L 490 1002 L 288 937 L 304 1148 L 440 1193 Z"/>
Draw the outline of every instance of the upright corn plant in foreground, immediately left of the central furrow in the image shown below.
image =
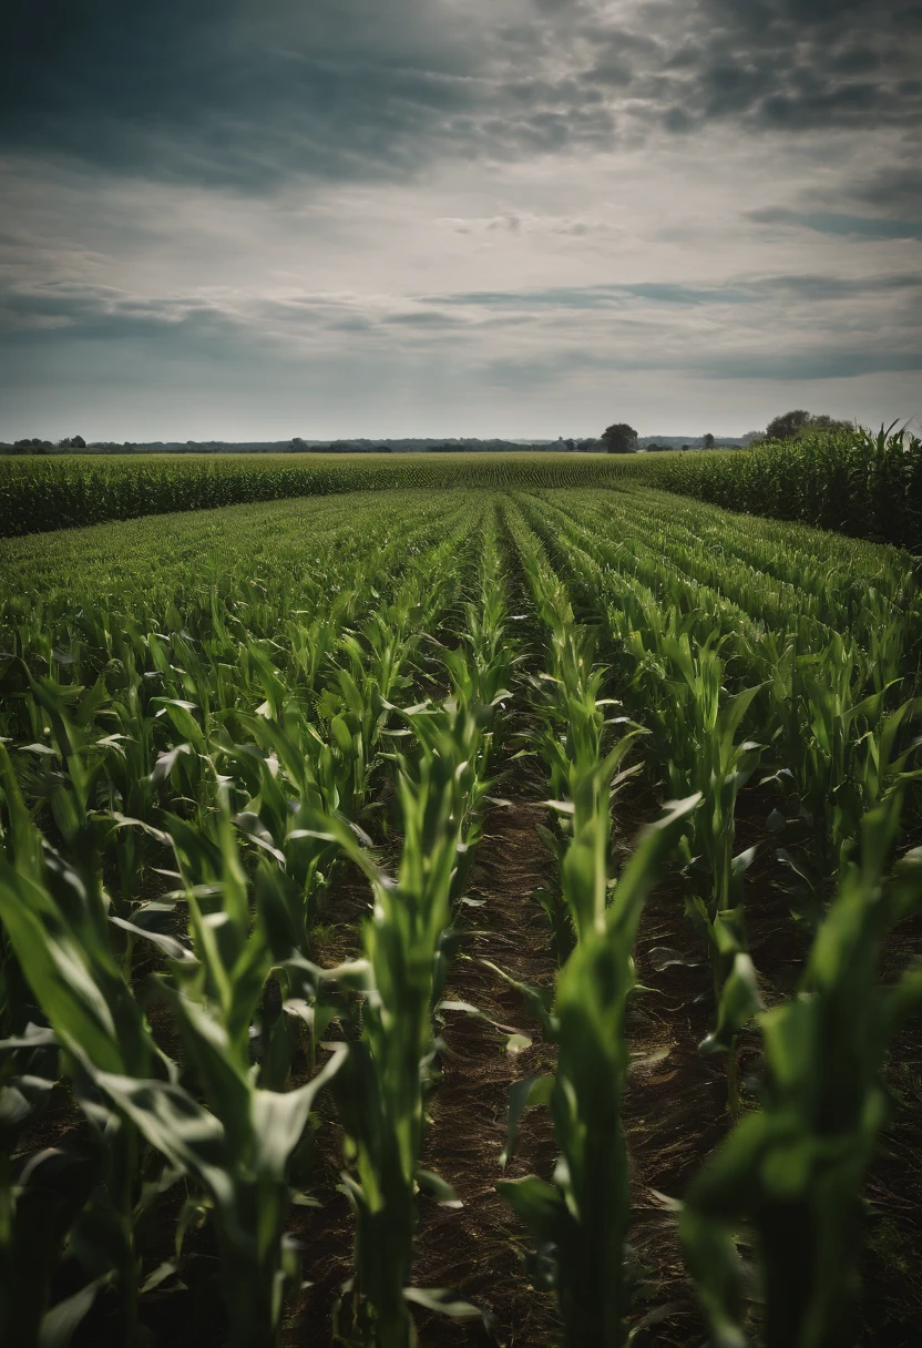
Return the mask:
<path id="1" fill-rule="evenodd" d="M 419 755 L 415 764 L 398 756 L 404 837 L 396 879 L 371 868 L 355 837 L 341 834 L 371 876 L 375 903 L 364 930 L 361 1041 L 334 1085 L 350 1161 L 344 1184 L 356 1211 L 356 1275 L 337 1329 L 346 1341 L 380 1348 L 415 1344 L 410 1301 L 438 1302 L 410 1285 L 417 1192 L 457 1205 L 419 1159 L 437 1053 L 433 1012 L 443 991 L 458 865 L 483 794 L 477 766 L 488 721 L 488 709 L 461 698 L 403 714 Z M 457 1313 L 477 1314 L 469 1306 Z"/>

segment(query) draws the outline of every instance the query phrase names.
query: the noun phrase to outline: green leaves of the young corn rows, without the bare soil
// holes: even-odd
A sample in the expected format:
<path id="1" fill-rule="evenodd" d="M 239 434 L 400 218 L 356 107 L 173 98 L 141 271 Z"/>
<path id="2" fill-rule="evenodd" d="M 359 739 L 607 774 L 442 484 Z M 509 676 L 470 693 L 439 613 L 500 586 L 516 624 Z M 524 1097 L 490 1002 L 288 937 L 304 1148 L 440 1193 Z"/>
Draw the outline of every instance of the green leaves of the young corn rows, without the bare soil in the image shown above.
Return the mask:
<path id="1" fill-rule="evenodd" d="M 476 472 L 510 485 L 483 456 Z M 559 1161 L 500 1188 L 565 1341 L 629 1337 L 625 1015 L 667 868 L 705 995 L 710 960 L 702 1049 L 728 1061 L 728 1138 L 682 1219 L 714 1339 L 759 1330 L 747 1224 L 770 1348 L 845 1337 L 882 1062 L 919 999 L 918 971 L 892 988 L 878 973 L 919 896 L 914 855 L 892 868 L 919 779 L 910 559 L 658 492 L 647 468 L 542 456 L 539 476 L 527 458 L 516 472 L 527 491 L 369 489 L 0 545 L 4 1341 L 63 1341 L 101 1298 L 140 1344 L 146 1297 L 181 1294 L 187 1232 L 208 1224 L 229 1341 L 275 1345 L 299 1279 L 290 1206 L 313 1201 L 311 1139 L 334 1112 L 356 1216 L 342 1340 L 410 1348 L 414 1306 L 480 1314 L 414 1286 L 414 1256 L 419 1206 L 458 1205 L 422 1165 L 427 1101 L 439 1026 L 476 1012 L 446 980 L 499 751 L 520 745 L 547 779 L 539 898 L 559 977 L 535 989 L 488 968 L 557 1064 L 514 1086 L 504 1161 L 530 1105 L 550 1108 Z M 450 473 L 465 480 L 465 456 Z M 635 774 L 683 803 L 623 860 Z M 798 995 L 767 1011 L 747 799 L 813 941 Z M 321 968 L 318 909 L 344 859 L 368 884 L 361 957 Z M 758 1109 L 740 1037 L 764 1049 Z M 30 1151 L 63 1082 L 84 1122 Z M 170 1221 L 164 1262 L 150 1233 Z M 62 1286 L 77 1290 L 55 1304 Z"/>

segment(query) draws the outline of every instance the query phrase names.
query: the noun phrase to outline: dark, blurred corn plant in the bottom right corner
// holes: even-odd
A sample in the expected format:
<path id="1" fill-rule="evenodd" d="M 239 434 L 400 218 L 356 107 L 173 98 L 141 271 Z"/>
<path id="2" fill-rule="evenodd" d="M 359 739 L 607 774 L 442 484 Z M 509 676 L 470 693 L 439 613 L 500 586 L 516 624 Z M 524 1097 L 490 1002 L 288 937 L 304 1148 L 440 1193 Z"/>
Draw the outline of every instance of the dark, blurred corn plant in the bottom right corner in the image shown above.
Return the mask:
<path id="1" fill-rule="evenodd" d="M 880 1074 L 900 1022 L 922 1007 L 922 968 L 879 983 L 884 937 L 922 909 L 922 857 L 888 879 L 900 793 L 875 806 L 847 863 L 794 1000 L 763 1011 L 762 1108 L 693 1181 L 685 1256 L 720 1348 L 840 1348 L 855 1337 L 861 1189 L 890 1115 Z M 737 1235 L 756 1236 L 764 1324 L 747 1314 Z M 760 1317 L 756 1317 L 760 1318 Z"/>

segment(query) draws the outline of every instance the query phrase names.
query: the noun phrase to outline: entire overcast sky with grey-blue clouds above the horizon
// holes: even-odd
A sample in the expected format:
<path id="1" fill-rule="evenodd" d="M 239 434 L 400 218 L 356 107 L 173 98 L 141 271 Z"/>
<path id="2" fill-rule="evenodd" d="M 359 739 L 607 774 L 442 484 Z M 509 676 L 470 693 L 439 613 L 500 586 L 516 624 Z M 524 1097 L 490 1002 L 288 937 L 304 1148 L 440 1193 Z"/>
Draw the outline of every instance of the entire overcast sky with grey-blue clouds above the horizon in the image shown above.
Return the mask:
<path id="1" fill-rule="evenodd" d="M 7 0 L 0 438 L 922 415 L 919 0 Z"/>

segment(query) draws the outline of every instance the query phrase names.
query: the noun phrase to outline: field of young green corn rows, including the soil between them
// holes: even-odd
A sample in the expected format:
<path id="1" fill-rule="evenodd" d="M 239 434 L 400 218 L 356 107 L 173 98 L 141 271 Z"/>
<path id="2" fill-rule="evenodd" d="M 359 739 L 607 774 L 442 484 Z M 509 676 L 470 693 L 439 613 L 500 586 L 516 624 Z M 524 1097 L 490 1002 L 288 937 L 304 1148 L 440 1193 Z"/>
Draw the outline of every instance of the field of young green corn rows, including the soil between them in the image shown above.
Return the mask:
<path id="1" fill-rule="evenodd" d="M 474 458 L 0 539 L 0 1341 L 918 1341 L 913 558 Z"/>

